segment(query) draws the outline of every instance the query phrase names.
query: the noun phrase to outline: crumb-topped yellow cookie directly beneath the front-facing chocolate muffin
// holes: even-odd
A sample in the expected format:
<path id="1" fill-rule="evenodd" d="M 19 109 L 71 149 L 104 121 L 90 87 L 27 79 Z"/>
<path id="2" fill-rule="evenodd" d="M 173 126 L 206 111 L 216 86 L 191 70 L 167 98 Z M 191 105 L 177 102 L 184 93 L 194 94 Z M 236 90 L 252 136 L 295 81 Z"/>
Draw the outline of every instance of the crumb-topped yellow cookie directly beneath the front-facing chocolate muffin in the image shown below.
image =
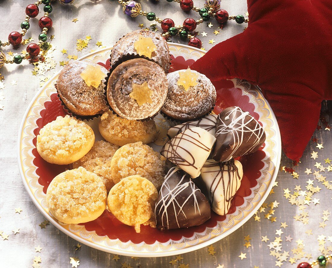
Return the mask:
<path id="1" fill-rule="evenodd" d="M 156 132 L 156 124 L 153 120 L 136 121 L 121 118 L 112 112 L 106 112 L 101 116 L 101 125 L 109 134 L 118 138 L 136 137 L 146 133 Z"/>

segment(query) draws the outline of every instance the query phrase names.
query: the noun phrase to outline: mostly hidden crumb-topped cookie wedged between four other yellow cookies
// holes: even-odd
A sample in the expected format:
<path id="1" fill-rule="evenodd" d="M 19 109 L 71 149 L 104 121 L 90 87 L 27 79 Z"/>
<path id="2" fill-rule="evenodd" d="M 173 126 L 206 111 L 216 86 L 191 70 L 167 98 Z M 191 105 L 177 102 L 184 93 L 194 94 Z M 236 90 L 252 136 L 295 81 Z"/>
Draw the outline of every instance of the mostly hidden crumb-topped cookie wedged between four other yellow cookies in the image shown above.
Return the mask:
<path id="1" fill-rule="evenodd" d="M 117 182 L 111 176 L 111 160 L 114 153 L 119 149 L 118 145 L 99 140 L 91 150 L 80 160 L 73 163 L 73 168 L 84 167 L 86 170 L 96 173 L 105 183 L 109 191 Z"/>

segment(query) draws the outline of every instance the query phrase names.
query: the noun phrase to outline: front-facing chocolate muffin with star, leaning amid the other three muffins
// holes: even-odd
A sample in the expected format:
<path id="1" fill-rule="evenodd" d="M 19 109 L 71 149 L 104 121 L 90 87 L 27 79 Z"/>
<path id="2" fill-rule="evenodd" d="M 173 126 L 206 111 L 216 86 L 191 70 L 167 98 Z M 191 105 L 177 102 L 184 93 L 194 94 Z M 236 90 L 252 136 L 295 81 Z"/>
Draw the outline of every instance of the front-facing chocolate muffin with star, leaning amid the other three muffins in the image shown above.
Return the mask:
<path id="1" fill-rule="evenodd" d="M 121 63 L 107 84 L 112 110 L 128 120 L 151 119 L 160 111 L 167 96 L 167 78 L 161 67 L 146 59 Z"/>

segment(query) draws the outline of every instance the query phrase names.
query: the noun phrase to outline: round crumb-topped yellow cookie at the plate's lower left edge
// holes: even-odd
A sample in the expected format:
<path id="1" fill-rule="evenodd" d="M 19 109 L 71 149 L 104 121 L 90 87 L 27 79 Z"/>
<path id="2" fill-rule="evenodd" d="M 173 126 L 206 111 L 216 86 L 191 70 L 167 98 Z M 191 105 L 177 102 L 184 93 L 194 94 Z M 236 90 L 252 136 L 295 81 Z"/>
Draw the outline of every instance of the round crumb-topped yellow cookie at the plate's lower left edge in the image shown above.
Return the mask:
<path id="1" fill-rule="evenodd" d="M 96 174 L 83 167 L 56 176 L 46 192 L 52 215 L 64 223 L 83 223 L 97 219 L 105 210 L 107 191 Z"/>

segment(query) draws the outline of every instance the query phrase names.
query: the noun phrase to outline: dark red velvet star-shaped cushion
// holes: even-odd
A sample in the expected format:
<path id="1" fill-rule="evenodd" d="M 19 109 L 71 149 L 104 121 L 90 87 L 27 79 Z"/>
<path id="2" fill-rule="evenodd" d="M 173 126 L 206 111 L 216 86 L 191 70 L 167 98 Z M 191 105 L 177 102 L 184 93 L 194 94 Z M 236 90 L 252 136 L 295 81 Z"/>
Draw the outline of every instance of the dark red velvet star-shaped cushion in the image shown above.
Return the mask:
<path id="1" fill-rule="evenodd" d="M 241 78 L 261 87 L 283 149 L 298 161 L 321 101 L 332 99 L 332 1 L 248 0 L 248 12 L 247 29 L 212 47 L 191 69 L 212 82 Z"/>

